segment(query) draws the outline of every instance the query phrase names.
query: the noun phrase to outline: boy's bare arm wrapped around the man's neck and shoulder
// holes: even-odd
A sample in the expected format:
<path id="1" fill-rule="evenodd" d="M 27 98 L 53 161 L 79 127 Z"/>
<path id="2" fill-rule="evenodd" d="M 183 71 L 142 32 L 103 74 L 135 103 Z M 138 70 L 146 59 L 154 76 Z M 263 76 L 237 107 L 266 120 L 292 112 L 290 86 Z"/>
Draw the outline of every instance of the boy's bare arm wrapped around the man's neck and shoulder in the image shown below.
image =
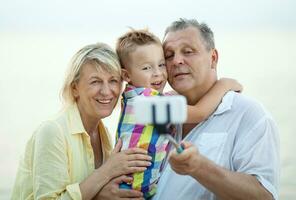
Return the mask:
<path id="1" fill-rule="evenodd" d="M 187 106 L 185 123 L 199 123 L 207 119 L 220 104 L 223 96 L 229 90 L 241 92 L 242 85 L 235 79 L 221 78 L 194 106 Z"/>

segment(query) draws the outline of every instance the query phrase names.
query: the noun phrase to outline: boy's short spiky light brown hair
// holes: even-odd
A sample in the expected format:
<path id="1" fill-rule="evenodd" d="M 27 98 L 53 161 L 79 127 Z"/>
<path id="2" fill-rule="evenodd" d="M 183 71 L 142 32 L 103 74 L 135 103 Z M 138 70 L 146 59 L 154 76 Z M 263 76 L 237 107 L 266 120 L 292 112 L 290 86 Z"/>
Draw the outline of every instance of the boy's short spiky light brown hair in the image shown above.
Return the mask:
<path id="1" fill-rule="evenodd" d="M 119 57 L 121 67 L 126 68 L 128 66 L 129 54 L 135 51 L 137 47 L 149 44 L 162 45 L 159 38 L 147 29 L 131 29 L 119 37 L 116 43 L 116 53 Z"/>

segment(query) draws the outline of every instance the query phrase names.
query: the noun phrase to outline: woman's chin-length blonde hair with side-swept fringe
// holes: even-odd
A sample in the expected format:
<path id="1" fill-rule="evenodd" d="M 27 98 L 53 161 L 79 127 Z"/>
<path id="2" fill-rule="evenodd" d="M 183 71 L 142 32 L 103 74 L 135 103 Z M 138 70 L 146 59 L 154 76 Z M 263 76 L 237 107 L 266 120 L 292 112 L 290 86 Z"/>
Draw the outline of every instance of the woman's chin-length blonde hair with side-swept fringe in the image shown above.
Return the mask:
<path id="1" fill-rule="evenodd" d="M 88 62 L 94 63 L 98 70 L 103 69 L 111 74 L 121 75 L 118 56 L 110 46 L 104 43 L 96 43 L 83 47 L 72 57 L 66 73 L 61 91 L 65 105 L 75 103 L 72 85 L 79 81 L 81 69 Z"/>

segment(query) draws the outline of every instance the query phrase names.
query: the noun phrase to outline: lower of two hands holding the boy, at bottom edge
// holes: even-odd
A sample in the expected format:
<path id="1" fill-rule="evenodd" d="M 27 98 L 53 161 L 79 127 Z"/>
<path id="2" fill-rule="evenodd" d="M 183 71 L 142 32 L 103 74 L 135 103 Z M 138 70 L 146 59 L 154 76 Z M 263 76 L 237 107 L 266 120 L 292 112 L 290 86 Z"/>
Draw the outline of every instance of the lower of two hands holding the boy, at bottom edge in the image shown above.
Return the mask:
<path id="1" fill-rule="evenodd" d="M 94 198 L 95 200 L 144 200 L 143 193 L 137 190 L 120 189 L 122 182 L 132 182 L 132 178 L 122 175 L 107 183 Z"/>

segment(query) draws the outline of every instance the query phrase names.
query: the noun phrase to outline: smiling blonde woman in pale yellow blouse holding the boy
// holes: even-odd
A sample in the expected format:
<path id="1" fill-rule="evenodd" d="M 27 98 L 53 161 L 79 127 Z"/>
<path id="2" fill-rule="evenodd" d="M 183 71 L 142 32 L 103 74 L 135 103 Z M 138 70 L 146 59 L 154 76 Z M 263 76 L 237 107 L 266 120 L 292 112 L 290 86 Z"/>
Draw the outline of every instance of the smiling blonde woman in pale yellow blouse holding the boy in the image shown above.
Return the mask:
<path id="1" fill-rule="evenodd" d="M 116 178 L 129 180 L 122 175 L 151 164 L 143 149 L 119 152 L 121 142 L 111 152 L 101 119 L 112 113 L 121 86 L 117 55 L 106 44 L 74 55 L 62 90 L 64 109 L 28 141 L 12 199 L 92 199 Z"/>

